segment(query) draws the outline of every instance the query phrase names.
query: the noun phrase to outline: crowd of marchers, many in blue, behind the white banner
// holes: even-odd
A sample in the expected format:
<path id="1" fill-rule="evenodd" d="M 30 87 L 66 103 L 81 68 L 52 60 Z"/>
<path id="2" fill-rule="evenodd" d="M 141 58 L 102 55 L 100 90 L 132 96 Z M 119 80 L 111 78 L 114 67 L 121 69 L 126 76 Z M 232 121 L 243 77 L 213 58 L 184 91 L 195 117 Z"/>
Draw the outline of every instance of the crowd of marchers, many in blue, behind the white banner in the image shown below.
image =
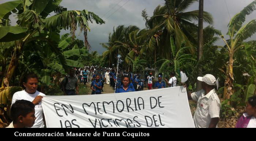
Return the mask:
<path id="1" fill-rule="evenodd" d="M 92 90 L 91 94 L 101 94 L 103 92 L 104 84 L 110 85 L 116 93 L 123 92 L 120 89 L 126 89 L 131 87 L 127 92 L 133 91 L 143 91 L 144 85 L 151 89 L 159 89 L 166 87 L 176 87 L 177 78 L 175 77 L 175 73 L 170 73 L 170 80 L 167 79 L 162 80 L 162 73 L 158 74 L 158 81 L 153 82 L 154 76 L 152 73 L 146 73 L 145 76 L 142 76 L 140 73 L 132 73 L 127 71 L 118 71 L 112 68 L 102 68 L 98 66 L 85 66 L 84 68 L 74 68 L 76 73 L 71 73 L 64 79 L 62 83 L 63 89 L 65 89 L 65 95 L 75 95 L 78 94 L 77 82 L 91 84 L 90 89 Z M 73 70 L 71 71 L 73 72 Z M 74 77 L 73 77 L 74 76 Z M 75 78 L 77 81 L 75 81 Z M 124 79 L 128 78 L 128 86 L 124 84 Z M 66 81 L 69 80 L 66 84 Z M 74 81 L 73 81 L 74 80 Z M 153 85 L 154 83 L 154 85 Z M 70 87 L 72 85 L 72 87 Z M 72 91 L 72 93 L 71 93 Z"/>

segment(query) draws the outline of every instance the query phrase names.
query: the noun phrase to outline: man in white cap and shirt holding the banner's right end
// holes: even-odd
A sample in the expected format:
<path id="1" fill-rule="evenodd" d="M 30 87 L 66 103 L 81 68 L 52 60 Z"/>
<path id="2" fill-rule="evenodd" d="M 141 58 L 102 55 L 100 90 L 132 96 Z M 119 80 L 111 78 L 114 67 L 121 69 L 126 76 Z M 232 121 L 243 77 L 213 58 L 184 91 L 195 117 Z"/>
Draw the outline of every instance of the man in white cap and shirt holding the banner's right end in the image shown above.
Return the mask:
<path id="1" fill-rule="evenodd" d="M 202 90 L 190 93 L 187 89 L 188 99 L 197 102 L 193 117 L 196 128 L 215 128 L 219 122 L 221 103 L 215 91 L 216 79 L 213 75 L 197 77 L 202 81 Z M 187 87 L 185 84 L 184 87 Z"/>

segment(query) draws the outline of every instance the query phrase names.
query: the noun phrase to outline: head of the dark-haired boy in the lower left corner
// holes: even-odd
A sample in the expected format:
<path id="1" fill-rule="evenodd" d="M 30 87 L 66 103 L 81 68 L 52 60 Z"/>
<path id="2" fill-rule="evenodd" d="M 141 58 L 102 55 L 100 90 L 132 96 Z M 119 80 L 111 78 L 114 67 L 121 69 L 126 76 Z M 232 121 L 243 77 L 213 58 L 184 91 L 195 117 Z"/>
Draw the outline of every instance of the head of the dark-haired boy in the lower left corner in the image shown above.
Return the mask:
<path id="1" fill-rule="evenodd" d="M 14 123 L 32 127 L 35 123 L 35 105 L 27 100 L 17 100 L 11 107 L 11 118 Z"/>

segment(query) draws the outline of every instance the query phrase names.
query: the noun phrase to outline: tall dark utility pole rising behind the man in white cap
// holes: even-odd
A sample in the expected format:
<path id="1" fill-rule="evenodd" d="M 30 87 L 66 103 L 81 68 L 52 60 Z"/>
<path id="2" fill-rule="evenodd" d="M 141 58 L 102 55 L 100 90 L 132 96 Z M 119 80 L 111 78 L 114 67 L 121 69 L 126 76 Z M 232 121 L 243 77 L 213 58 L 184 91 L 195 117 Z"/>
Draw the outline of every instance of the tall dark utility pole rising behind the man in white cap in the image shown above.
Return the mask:
<path id="1" fill-rule="evenodd" d="M 198 20 L 198 45 L 197 45 L 197 61 L 203 56 L 203 16 L 204 16 L 204 0 L 199 0 L 199 20 Z M 199 67 L 198 76 L 202 77 L 202 68 Z M 202 82 L 196 82 L 196 90 L 202 89 Z"/>

